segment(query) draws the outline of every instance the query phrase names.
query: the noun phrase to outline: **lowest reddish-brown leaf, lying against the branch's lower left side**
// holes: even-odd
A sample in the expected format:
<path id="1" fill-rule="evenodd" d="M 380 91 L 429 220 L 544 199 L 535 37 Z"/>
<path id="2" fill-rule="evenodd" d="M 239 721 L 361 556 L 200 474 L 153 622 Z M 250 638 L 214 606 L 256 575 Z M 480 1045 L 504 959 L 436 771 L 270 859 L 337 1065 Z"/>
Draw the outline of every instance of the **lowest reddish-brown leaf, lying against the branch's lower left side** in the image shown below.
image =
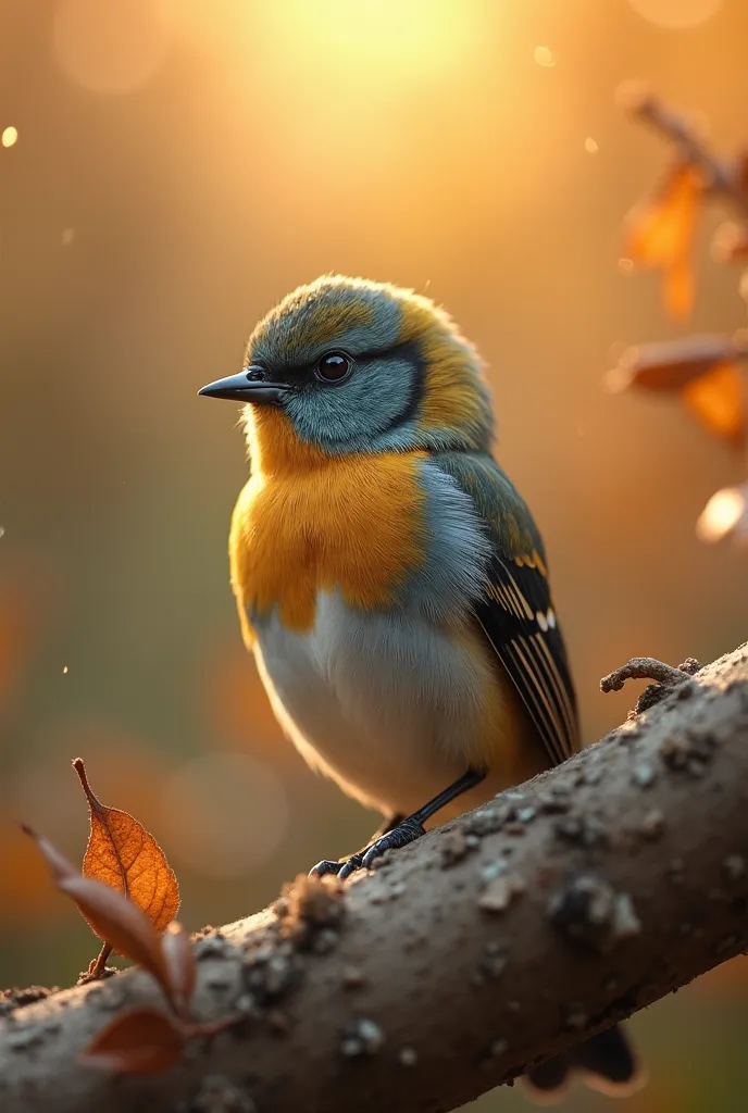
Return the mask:
<path id="1" fill-rule="evenodd" d="M 149 1005 L 120 1013 L 79 1055 L 81 1063 L 119 1074 L 167 1071 L 181 1058 L 186 1033 Z"/>

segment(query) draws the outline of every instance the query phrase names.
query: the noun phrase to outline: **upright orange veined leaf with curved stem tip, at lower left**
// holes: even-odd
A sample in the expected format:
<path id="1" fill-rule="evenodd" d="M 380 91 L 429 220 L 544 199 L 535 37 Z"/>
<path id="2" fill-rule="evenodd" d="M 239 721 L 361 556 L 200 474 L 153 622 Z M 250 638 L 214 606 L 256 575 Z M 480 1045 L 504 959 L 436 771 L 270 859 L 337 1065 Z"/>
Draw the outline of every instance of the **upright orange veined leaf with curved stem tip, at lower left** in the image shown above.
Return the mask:
<path id="1" fill-rule="evenodd" d="M 100 802 L 80 758 L 72 767 L 86 792 L 91 823 L 83 876 L 121 893 L 163 932 L 179 909 L 179 885 L 166 855 L 137 819 Z"/>

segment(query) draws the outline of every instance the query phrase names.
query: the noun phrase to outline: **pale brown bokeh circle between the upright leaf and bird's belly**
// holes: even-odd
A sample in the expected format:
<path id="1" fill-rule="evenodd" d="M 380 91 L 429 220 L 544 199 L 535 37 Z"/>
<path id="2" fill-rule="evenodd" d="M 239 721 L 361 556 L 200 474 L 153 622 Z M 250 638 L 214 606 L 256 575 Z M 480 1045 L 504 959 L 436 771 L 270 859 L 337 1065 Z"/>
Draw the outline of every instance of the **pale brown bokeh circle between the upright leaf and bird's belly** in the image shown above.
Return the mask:
<path id="1" fill-rule="evenodd" d="M 163 845 L 208 877 L 240 877 L 273 857 L 288 827 L 286 792 L 272 769 L 243 754 L 206 754 L 167 778 Z"/>

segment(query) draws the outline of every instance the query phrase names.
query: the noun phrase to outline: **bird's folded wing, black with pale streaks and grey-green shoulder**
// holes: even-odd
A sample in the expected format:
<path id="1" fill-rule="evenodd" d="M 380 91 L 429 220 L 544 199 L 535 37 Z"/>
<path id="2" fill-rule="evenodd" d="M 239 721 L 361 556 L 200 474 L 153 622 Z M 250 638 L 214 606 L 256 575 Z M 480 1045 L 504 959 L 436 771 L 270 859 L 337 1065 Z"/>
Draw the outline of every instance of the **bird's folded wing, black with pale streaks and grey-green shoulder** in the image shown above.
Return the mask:
<path id="1" fill-rule="evenodd" d="M 484 524 L 491 560 L 475 619 L 558 765 L 577 749 L 579 723 L 538 528 L 491 456 L 443 453 L 435 463 L 471 495 Z"/>

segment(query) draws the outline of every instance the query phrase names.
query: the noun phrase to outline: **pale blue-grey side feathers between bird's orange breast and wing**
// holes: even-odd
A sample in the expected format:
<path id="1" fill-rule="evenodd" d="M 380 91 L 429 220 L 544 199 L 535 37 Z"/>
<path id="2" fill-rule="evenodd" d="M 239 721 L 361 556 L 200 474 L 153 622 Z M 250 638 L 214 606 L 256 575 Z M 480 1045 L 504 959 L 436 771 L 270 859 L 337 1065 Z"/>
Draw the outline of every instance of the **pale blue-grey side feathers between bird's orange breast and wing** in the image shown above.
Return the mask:
<path id="1" fill-rule="evenodd" d="M 480 598 L 491 545 L 473 500 L 436 464 L 424 461 L 425 559 L 403 585 L 401 600 L 431 621 L 463 618 Z"/>

